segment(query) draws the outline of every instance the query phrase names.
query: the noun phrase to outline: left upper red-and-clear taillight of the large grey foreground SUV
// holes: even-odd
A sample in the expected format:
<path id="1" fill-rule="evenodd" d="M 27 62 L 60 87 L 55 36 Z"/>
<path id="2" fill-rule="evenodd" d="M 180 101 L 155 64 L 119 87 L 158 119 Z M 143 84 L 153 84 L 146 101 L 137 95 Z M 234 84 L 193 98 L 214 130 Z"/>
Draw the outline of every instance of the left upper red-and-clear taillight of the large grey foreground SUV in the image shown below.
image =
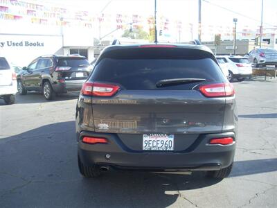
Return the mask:
<path id="1" fill-rule="evenodd" d="M 109 85 L 103 83 L 84 83 L 81 94 L 87 96 L 113 96 L 118 92 L 118 85 Z"/>

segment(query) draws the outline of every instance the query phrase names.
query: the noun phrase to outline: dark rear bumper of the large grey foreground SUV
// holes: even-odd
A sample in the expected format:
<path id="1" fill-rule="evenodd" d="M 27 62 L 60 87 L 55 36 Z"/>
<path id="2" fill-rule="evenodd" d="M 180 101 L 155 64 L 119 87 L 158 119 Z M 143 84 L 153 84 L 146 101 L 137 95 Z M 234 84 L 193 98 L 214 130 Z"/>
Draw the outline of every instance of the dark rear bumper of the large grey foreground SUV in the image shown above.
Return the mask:
<path id="1" fill-rule="evenodd" d="M 108 144 L 84 144 L 84 136 L 105 137 Z M 200 135 L 188 148 L 181 151 L 144 151 L 129 149 L 116 135 L 81 132 L 78 155 L 86 166 L 93 164 L 142 170 L 200 170 L 213 171 L 233 162 L 235 142 L 228 146 L 208 145 L 212 138 L 233 137 L 233 132 Z M 142 144 L 141 144 L 142 145 Z M 109 158 L 106 155 L 110 155 Z"/>

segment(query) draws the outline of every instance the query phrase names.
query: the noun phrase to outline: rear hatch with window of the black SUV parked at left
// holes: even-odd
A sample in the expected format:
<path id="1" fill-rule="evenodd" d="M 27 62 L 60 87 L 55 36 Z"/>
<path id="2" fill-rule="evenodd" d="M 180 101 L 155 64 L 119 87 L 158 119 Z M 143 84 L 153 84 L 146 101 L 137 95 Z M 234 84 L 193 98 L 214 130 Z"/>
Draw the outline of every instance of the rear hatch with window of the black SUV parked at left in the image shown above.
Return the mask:
<path id="1" fill-rule="evenodd" d="M 80 56 L 59 57 L 55 71 L 65 80 L 84 80 L 91 72 L 91 64 Z"/>

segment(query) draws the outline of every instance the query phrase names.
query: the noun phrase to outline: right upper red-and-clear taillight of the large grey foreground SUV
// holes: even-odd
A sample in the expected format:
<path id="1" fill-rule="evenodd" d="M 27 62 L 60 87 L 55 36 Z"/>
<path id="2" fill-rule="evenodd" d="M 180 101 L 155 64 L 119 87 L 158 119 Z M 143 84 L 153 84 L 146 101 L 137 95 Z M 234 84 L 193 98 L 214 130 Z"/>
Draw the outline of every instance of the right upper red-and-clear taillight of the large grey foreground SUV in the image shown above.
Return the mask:
<path id="1" fill-rule="evenodd" d="M 235 94 L 235 89 L 231 83 L 202 85 L 199 87 L 199 90 L 204 96 L 209 98 L 233 96 Z"/>

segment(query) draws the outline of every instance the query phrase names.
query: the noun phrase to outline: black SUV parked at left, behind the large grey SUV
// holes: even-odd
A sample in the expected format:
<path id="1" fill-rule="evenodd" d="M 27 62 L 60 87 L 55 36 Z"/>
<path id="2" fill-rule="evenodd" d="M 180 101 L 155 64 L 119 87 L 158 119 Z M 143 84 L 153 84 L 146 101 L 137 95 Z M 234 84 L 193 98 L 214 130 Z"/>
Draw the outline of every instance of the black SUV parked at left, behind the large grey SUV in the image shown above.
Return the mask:
<path id="1" fill-rule="evenodd" d="M 91 72 L 91 65 L 80 55 L 44 55 L 23 69 L 17 76 L 19 94 L 39 91 L 47 100 L 52 100 L 57 93 L 82 89 Z"/>

